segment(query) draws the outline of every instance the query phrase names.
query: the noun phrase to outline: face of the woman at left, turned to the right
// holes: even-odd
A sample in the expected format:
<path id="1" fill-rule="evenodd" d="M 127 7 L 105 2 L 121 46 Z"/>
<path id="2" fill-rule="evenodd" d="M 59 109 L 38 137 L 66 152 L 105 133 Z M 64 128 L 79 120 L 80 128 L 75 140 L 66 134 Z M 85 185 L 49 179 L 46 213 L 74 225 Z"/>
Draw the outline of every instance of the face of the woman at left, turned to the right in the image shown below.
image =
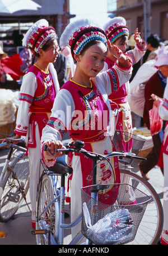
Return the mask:
<path id="1" fill-rule="evenodd" d="M 46 62 L 54 63 L 59 53 L 59 46 L 56 39 L 52 42 L 48 50 L 41 50 L 41 54 Z"/>

